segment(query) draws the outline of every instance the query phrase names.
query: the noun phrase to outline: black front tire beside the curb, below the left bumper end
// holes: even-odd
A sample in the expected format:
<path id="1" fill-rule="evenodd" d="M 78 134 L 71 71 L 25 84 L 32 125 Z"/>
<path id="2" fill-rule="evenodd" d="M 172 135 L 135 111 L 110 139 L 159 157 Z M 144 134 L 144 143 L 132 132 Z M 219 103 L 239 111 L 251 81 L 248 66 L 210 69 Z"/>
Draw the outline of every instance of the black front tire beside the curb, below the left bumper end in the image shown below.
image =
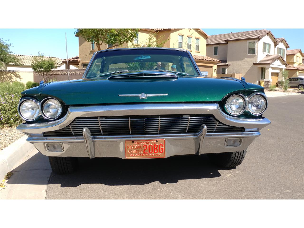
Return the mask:
<path id="1" fill-rule="evenodd" d="M 57 174 L 73 173 L 78 168 L 77 157 L 49 157 L 52 170 Z"/>

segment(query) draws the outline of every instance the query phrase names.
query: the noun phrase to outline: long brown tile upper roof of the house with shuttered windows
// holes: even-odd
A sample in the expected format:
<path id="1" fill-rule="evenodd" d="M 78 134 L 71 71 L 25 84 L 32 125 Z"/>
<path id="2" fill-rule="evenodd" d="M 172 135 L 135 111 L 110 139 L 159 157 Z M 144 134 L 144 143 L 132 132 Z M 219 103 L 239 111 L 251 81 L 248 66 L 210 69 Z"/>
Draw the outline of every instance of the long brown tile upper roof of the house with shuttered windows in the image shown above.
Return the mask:
<path id="1" fill-rule="evenodd" d="M 232 40 L 248 40 L 248 39 L 261 39 L 266 34 L 271 33 L 269 30 L 260 29 L 260 30 L 252 30 L 238 33 L 226 33 L 219 35 L 212 35 L 209 39 L 206 40 L 206 44 L 220 44 L 227 43 L 227 41 Z M 273 36 L 273 34 L 271 33 Z M 274 37 L 274 36 L 273 36 Z"/>

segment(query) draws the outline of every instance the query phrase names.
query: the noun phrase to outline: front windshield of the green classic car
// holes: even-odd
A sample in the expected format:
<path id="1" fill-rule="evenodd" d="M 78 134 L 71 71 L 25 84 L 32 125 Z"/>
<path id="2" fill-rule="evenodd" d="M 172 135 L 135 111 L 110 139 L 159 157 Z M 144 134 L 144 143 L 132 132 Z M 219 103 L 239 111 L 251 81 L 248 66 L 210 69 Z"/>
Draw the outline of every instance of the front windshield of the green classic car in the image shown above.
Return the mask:
<path id="1" fill-rule="evenodd" d="M 167 70 L 199 76 L 185 51 L 168 49 L 125 49 L 95 55 L 85 78 L 115 71 Z"/>

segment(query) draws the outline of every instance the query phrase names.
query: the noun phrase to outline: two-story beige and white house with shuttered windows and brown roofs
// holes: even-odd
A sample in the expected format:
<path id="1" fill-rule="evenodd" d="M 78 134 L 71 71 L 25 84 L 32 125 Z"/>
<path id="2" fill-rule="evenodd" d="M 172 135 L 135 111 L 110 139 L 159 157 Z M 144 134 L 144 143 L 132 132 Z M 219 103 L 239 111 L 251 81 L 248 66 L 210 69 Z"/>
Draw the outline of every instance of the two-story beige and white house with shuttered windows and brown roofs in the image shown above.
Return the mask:
<path id="1" fill-rule="evenodd" d="M 212 35 L 206 40 L 206 55 L 221 60 L 218 74 L 242 74 L 247 82 L 263 81 L 265 87 L 281 80 L 287 48 L 284 38 L 276 39 L 266 29 Z"/>

